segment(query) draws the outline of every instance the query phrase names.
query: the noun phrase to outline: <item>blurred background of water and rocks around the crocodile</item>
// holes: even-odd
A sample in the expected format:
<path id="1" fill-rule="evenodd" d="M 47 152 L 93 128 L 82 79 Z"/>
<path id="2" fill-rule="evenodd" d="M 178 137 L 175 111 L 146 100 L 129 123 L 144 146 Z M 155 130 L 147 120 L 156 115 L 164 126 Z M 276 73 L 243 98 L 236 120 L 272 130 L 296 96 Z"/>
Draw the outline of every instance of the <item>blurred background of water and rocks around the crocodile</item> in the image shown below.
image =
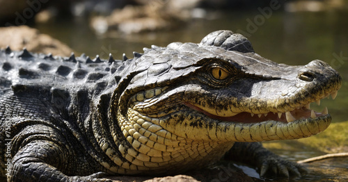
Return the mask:
<path id="1" fill-rule="evenodd" d="M 152 44 L 200 42 L 212 31 L 228 29 L 242 33 L 256 53 L 276 63 L 324 60 L 344 81 L 335 101 L 311 106 L 329 108 L 331 130 L 313 140 L 285 142 L 292 147 L 267 146 L 287 158 L 296 151 L 292 160 L 348 151 L 347 0 L 0 0 L 0 23 L 1 48 L 27 47 L 61 56 L 74 51 L 77 56 L 107 58 L 112 53 L 121 59 L 122 53 L 131 57 Z M 348 168 L 347 163 L 338 167 Z M 348 179 L 345 173 L 329 177 Z"/>

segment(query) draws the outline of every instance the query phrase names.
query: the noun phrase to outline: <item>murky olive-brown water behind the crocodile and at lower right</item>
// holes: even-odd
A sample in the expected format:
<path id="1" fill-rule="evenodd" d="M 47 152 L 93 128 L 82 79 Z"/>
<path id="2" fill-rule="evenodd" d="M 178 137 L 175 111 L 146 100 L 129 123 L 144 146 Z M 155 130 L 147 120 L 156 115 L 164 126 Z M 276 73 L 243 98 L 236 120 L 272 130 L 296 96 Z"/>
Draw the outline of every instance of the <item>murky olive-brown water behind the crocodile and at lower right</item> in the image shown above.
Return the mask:
<path id="1" fill-rule="evenodd" d="M 128 57 L 132 51 L 142 52 L 143 47 L 152 44 L 166 46 L 170 42 L 200 42 L 212 31 L 229 29 L 243 33 L 251 40 L 256 53 L 277 63 L 288 65 L 305 65 L 311 60 L 319 59 L 329 63 L 340 72 L 343 85 L 335 101 L 322 100 L 321 106 L 311 106 L 321 111 L 324 106 L 329 108 L 333 122 L 348 120 L 348 12 L 328 11 L 322 13 L 285 13 L 274 11 L 271 16 L 264 17 L 260 12 L 224 12 L 208 14 L 212 19 L 196 19 L 182 28 L 173 31 L 142 33 L 141 35 L 121 35 L 114 33 L 108 38 L 96 36 L 85 20 L 76 22 L 56 22 L 54 24 L 38 24 L 42 33 L 52 35 L 65 42 L 79 53 L 96 54 L 106 58 L 109 53 L 120 59 L 122 53 Z M 214 17 L 214 18 L 213 18 Z M 347 133 L 348 134 L 348 133 Z M 297 151 L 280 150 L 277 154 L 292 160 L 301 160 L 317 156 L 315 151 L 299 148 Z M 343 160 L 343 161 L 342 161 Z M 311 163 L 311 168 L 322 168 L 326 172 L 308 174 L 299 181 L 345 181 L 348 180 L 345 162 L 328 160 L 320 165 Z M 327 169 L 326 169 L 327 168 Z M 341 169 L 345 176 L 336 174 Z M 328 174 L 329 173 L 329 174 Z M 341 175 L 341 176 L 340 176 Z"/>

